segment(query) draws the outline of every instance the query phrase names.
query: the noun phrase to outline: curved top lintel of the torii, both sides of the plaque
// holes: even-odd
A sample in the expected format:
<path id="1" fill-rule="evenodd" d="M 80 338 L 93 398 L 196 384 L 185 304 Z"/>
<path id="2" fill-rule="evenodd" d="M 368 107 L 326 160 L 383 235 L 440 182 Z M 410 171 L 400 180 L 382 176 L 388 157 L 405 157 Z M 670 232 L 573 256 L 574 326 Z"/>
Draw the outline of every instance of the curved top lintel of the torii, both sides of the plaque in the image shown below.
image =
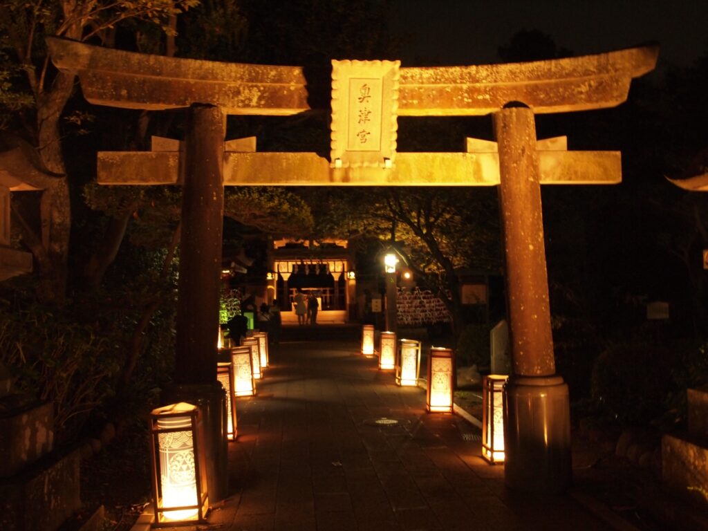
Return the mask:
<path id="1" fill-rule="evenodd" d="M 146 55 L 59 38 L 47 45 L 57 68 L 76 73 L 86 99 L 98 105 L 161 110 L 210 103 L 233 115 L 312 110 L 301 67 Z M 401 68 L 398 115 L 486 115 L 510 101 L 537 114 L 613 107 L 657 57 L 658 46 L 646 45 L 527 63 Z"/>

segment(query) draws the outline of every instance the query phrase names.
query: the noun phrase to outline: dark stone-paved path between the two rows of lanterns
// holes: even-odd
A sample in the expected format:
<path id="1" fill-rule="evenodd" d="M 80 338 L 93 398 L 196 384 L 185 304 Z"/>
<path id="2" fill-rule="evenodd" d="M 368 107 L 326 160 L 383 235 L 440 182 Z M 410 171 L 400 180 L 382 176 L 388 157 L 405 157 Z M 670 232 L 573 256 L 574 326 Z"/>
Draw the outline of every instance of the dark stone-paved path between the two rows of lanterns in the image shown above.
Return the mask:
<path id="1" fill-rule="evenodd" d="M 476 427 L 426 413 L 425 392 L 397 387 L 354 341 L 281 343 L 270 356 L 258 395 L 236 406 L 232 496 L 199 529 L 612 529 L 570 496 L 506 491 L 503 465 L 462 436 Z"/>

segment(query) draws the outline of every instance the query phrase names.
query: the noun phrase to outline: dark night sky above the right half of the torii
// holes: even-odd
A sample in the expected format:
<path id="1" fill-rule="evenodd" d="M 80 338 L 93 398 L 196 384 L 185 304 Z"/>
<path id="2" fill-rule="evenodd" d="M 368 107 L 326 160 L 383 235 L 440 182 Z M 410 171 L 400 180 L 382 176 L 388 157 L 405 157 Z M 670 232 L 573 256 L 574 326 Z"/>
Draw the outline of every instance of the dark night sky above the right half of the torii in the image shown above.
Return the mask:
<path id="1" fill-rule="evenodd" d="M 586 55 L 661 45 L 660 65 L 689 66 L 708 52 L 708 0 L 394 0 L 396 30 L 413 42 L 403 66 L 499 62 L 497 47 L 520 29 Z"/>

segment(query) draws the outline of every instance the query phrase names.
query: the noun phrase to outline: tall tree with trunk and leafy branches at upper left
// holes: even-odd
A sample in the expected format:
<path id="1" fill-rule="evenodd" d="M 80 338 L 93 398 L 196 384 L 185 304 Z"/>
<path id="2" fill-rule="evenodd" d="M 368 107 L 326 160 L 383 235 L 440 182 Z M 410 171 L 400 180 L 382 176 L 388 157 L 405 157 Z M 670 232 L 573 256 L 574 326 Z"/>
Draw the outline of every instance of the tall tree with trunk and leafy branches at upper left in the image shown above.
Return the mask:
<path id="1" fill-rule="evenodd" d="M 33 183 L 43 191 L 41 232 L 25 227 L 24 237 L 40 265 L 40 293 L 45 302 L 63 304 L 67 282 L 67 256 L 71 230 L 69 178 L 62 153 L 61 117 L 74 93 L 74 75 L 57 72 L 47 57 L 44 37 L 110 44 L 116 25 L 146 21 L 167 32 L 171 16 L 194 6 L 197 0 L 9 0 L 0 4 L 0 32 L 6 35 L 2 53 L 10 62 L 0 69 L 6 111 L 16 116 L 23 136 L 34 148 L 35 164 L 45 177 Z M 18 78 L 23 72 L 24 79 Z M 29 101 L 33 101 L 33 105 Z M 78 118 L 76 118 L 78 119 Z M 7 124 L 7 121 L 6 121 Z"/>

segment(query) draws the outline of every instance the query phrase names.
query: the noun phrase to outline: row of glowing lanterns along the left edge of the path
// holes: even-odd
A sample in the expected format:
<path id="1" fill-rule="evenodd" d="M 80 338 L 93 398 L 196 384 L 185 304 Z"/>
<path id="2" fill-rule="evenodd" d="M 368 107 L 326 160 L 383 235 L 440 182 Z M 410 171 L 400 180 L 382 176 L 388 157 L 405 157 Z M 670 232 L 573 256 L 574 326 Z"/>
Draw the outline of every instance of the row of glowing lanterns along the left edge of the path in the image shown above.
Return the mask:
<path id="1" fill-rule="evenodd" d="M 236 397 L 256 394 L 256 380 L 268 367 L 268 333 L 254 331 L 230 346 L 219 333 L 219 351 L 228 361 L 217 362 L 217 380 L 227 395 L 227 439 L 236 440 Z M 225 347 L 225 348 L 224 348 Z M 209 506 L 200 409 L 180 402 L 150 413 L 152 527 L 205 523 Z"/>

